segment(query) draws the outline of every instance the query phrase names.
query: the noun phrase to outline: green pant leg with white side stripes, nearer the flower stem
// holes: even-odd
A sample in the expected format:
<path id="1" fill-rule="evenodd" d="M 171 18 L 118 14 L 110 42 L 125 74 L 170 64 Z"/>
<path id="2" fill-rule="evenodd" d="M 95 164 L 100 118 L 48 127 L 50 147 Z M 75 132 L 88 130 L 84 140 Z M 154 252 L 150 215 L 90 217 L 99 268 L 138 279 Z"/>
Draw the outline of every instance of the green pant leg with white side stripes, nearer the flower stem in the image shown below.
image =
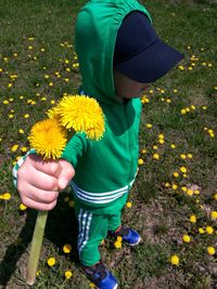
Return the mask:
<path id="1" fill-rule="evenodd" d="M 78 220 L 78 252 L 82 265 L 92 266 L 100 261 L 99 245 L 107 235 L 107 216 L 93 214 L 79 208 L 76 210 Z"/>

